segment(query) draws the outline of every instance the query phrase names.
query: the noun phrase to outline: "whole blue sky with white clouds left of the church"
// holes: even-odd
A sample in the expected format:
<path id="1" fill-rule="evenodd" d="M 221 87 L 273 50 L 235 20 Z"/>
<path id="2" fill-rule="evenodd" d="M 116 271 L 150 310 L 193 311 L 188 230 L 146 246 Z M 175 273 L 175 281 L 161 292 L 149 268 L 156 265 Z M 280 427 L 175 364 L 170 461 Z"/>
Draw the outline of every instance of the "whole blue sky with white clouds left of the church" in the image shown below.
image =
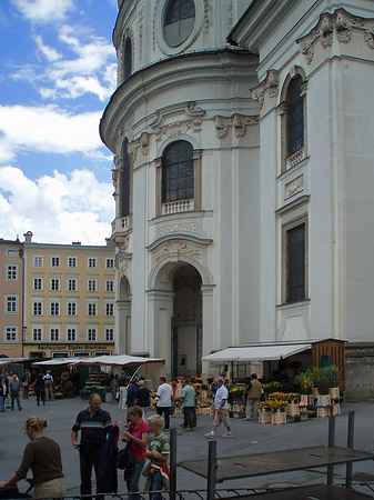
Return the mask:
<path id="1" fill-rule="evenodd" d="M 0 1 L 0 238 L 105 244 L 117 0 Z"/>

